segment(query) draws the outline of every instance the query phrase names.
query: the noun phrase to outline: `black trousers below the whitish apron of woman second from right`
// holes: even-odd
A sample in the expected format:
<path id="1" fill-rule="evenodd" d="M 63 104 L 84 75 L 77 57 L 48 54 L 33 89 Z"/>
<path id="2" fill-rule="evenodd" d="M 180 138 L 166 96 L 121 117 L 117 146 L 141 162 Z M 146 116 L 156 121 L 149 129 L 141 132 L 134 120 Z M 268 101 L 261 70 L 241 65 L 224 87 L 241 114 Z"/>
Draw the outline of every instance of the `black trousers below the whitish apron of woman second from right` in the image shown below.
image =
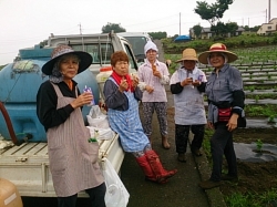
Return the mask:
<path id="1" fill-rule="evenodd" d="M 178 125 L 175 124 L 175 146 L 177 153 L 186 153 L 189 130 L 194 134 L 193 149 L 199 149 L 204 138 L 205 125 Z"/>

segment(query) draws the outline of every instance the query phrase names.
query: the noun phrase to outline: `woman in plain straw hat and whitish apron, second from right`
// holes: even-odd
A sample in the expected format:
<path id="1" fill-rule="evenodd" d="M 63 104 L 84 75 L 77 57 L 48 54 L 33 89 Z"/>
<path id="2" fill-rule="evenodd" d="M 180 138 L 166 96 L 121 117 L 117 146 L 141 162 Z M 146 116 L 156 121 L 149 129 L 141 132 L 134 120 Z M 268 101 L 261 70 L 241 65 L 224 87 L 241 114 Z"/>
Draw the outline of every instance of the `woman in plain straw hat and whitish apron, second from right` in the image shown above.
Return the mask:
<path id="1" fill-rule="evenodd" d="M 207 121 L 203 93 L 197 86 L 206 82 L 206 75 L 196 66 L 198 60 L 194 49 L 185 49 L 182 59 L 176 62 L 181 63 L 181 68 L 173 73 L 170 83 L 175 106 L 175 145 L 177 161 L 186 162 L 185 153 L 191 130 L 194 134 L 192 152 L 196 156 L 202 155 L 199 149 Z"/>

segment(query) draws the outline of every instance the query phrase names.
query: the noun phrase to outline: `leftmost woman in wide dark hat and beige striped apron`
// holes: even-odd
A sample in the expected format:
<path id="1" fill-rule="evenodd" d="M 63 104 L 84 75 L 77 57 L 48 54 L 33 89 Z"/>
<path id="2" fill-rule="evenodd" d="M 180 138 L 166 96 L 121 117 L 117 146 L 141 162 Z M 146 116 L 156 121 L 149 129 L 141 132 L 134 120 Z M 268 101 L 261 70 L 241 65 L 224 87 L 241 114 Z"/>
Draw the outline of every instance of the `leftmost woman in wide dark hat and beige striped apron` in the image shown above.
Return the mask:
<path id="1" fill-rule="evenodd" d="M 91 206 L 105 207 L 105 184 L 98 163 L 98 142 L 89 143 L 81 107 L 91 103 L 91 93 L 80 94 L 73 77 L 86 70 L 92 56 L 59 45 L 42 66 L 49 81 L 37 94 L 37 114 L 47 131 L 50 170 L 59 207 L 74 207 L 78 193 L 86 190 Z"/>

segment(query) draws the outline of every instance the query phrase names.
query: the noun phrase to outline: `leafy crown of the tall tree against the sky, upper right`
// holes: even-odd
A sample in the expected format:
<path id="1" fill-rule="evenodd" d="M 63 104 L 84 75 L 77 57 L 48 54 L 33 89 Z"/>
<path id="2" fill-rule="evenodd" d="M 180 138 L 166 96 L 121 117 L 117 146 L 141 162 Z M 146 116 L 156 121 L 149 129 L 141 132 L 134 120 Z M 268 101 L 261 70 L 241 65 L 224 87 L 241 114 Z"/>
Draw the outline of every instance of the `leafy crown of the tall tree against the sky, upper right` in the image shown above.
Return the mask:
<path id="1" fill-rule="evenodd" d="M 194 12 L 197 13 L 201 19 L 207 20 L 211 25 L 216 25 L 216 21 L 223 18 L 226 10 L 229 9 L 234 0 L 217 0 L 216 3 L 208 4 L 206 1 L 196 1 L 196 8 Z"/>

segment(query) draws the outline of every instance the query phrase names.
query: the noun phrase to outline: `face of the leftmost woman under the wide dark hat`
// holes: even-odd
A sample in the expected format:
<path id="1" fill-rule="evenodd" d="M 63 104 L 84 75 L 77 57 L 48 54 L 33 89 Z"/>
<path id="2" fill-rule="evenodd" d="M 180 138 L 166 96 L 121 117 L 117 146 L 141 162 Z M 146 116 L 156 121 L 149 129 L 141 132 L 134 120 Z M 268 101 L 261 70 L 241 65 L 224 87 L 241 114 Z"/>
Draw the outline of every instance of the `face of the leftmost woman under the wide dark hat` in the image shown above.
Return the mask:
<path id="1" fill-rule="evenodd" d="M 74 54 L 65 54 L 61 58 L 59 66 L 63 75 L 63 80 L 71 80 L 78 73 L 79 59 Z"/>

